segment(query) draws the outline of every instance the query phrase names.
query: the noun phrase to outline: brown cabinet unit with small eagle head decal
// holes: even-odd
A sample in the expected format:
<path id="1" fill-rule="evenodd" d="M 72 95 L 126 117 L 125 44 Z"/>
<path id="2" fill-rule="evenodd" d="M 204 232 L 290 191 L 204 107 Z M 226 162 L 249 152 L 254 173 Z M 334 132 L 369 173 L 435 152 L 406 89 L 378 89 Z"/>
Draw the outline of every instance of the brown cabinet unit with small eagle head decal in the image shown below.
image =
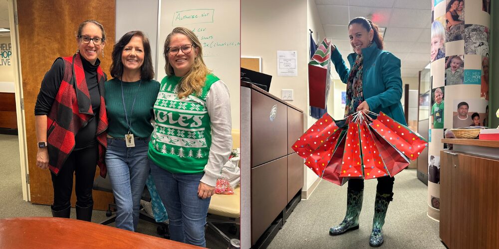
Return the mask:
<path id="1" fill-rule="evenodd" d="M 303 134 L 303 111 L 241 82 L 241 117 L 241 148 L 249 155 L 241 161 L 241 219 L 250 223 L 242 248 L 266 247 L 301 198 L 303 159 L 291 145 Z"/>

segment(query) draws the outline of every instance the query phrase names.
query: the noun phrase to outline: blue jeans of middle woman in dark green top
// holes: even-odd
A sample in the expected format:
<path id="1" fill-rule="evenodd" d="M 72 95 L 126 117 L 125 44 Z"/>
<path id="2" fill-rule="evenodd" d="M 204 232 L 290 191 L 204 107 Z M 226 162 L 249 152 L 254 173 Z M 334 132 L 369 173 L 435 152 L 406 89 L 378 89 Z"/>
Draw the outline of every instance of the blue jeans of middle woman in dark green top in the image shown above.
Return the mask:
<path id="1" fill-rule="evenodd" d="M 127 147 L 125 140 L 107 138 L 106 166 L 118 209 L 117 228 L 137 229 L 140 199 L 149 175 L 148 143 L 149 139 L 136 139 L 135 147 Z"/>

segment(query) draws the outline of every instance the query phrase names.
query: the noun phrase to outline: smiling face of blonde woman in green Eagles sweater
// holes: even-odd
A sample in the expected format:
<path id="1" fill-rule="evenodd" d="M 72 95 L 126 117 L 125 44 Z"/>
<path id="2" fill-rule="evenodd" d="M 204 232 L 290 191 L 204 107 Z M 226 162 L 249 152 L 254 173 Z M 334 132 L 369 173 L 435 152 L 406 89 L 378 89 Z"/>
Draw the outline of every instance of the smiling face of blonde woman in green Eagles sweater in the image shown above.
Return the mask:
<path id="1" fill-rule="evenodd" d="M 193 42 L 186 35 L 177 33 L 172 36 L 168 47 L 180 48 L 186 44 L 193 44 Z M 173 67 L 175 76 L 185 76 L 189 72 L 189 70 L 191 70 L 192 65 L 194 64 L 194 58 L 196 58 L 196 56 L 198 56 L 198 48 L 196 47 L 193 47 L 191 52 L 188 54 L 184 54 L 182 49 L 179 49 L 177 55 L 171 55 L 170 53 L 168 53 L 168 61 Z"/>

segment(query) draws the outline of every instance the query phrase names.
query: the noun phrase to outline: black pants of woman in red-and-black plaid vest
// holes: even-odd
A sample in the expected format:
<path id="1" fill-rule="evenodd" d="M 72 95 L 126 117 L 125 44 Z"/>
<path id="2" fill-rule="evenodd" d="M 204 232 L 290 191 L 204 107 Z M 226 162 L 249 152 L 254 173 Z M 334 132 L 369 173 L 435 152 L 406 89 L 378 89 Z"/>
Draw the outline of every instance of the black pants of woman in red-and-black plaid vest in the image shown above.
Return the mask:
<path id="1" fill-rule="evenodd" d="M 66 162 L 62 165 L 59 174 L 52 174 L 54 187 L 54 211 L 61 211 L 71 205 L 71 192 L 73 190 L 73 173 L 75 175 L 76 205 L 86 208 L 93 205 L 92 185 L 95 168 L 99 156 L 98 145 L 73 150 Z"/>

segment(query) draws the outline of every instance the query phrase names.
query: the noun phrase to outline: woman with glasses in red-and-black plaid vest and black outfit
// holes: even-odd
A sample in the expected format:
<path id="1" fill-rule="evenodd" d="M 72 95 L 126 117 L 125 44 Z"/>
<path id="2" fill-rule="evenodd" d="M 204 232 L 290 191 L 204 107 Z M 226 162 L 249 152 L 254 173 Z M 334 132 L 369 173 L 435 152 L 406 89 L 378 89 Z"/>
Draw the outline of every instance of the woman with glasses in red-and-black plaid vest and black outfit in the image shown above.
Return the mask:
<path id="1" fill-rule="evenodd" d="M 107 77 L 98 59 L 106 44 L 104 27 L 96 20 L 80 23 L 76 42 L 76 53 L 57 58 L 41 82 L 34 110 L 36 165 L 52 175 L 52 216 L 69 218 L 74 174 L 76 219 L 90 221 L 96 165 L 106 175 Z"/>

